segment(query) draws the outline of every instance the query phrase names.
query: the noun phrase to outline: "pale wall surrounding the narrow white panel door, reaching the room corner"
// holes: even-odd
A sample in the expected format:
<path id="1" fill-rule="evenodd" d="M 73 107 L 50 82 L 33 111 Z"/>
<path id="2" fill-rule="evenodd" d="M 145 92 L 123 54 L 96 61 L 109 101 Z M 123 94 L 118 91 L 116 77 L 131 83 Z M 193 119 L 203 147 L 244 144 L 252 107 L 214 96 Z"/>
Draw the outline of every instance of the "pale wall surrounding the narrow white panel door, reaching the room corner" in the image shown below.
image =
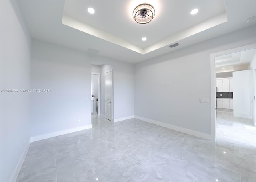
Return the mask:
<path id="1" fill-rule="evenodd" d="M 134 65 L 116 60 L 98 60 L 101 66 L 101 114 L 105 115 L 105 71 L 113 70 L 114 119 L 134 115 Z"/>

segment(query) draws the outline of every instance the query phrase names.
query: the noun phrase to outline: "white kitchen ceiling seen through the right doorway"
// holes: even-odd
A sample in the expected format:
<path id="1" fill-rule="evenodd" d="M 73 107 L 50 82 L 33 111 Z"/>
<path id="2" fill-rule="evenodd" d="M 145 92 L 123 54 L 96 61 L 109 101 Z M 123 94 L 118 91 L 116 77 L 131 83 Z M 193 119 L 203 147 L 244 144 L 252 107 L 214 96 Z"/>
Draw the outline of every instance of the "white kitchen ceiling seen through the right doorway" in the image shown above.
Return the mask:
<path id="1" fill-rule="evenodd" d="M 249 49 L 246 51 L 215 57 L 215 72 L 221 73 L 247 70 L 255 55 L 256 49 Z"/>

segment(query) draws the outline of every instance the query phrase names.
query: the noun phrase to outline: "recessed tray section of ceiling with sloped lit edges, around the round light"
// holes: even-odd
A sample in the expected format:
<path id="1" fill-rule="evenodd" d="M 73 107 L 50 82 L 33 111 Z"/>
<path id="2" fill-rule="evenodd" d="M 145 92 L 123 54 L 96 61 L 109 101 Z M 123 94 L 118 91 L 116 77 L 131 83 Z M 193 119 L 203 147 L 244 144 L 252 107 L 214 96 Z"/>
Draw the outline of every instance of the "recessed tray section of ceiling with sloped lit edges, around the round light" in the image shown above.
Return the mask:
<path id="1" fill-rule="evenodd" d="M 133 10 L 142 3 L 145 1 L 66 0 L 62 24 L 146 54 L 227 22 L 224 1 L 149 0 L 146 3 L 154 7 L 154 19 L 138 24 Z M 88 13 L 89 7 L 94 8 L 94 14 Z M 191 15 L 194 8 L 198 13 Z"/>

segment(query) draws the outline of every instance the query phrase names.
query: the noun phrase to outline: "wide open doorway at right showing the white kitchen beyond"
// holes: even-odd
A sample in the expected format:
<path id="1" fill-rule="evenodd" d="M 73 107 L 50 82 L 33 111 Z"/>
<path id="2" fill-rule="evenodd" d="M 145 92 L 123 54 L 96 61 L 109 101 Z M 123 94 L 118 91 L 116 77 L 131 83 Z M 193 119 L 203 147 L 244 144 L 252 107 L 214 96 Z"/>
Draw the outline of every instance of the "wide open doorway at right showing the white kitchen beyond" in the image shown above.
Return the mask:
<path id="1" fill-rule="evenodd" d="M 252 136 L 256 128 L 255 47 L 252 44 L 211 54 L 211 100 L 215 101 L 211 104 L 211 118 L 215 141 L 255 145 Z"/>

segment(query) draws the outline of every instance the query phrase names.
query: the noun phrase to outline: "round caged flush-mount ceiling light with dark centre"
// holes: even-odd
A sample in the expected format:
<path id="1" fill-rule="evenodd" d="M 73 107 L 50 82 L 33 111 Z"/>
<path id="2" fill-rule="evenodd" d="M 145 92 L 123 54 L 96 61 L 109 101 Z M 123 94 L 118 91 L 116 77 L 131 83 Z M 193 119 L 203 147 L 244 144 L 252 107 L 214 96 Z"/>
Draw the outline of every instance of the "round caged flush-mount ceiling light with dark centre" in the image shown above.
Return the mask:
<path id="1" fill-rule="evenodd" d="M 155 16 L 155 9 L 150 4 L 140 4 L 133 10 L 133 18 L 137 23 L 146 24 Z"/>

